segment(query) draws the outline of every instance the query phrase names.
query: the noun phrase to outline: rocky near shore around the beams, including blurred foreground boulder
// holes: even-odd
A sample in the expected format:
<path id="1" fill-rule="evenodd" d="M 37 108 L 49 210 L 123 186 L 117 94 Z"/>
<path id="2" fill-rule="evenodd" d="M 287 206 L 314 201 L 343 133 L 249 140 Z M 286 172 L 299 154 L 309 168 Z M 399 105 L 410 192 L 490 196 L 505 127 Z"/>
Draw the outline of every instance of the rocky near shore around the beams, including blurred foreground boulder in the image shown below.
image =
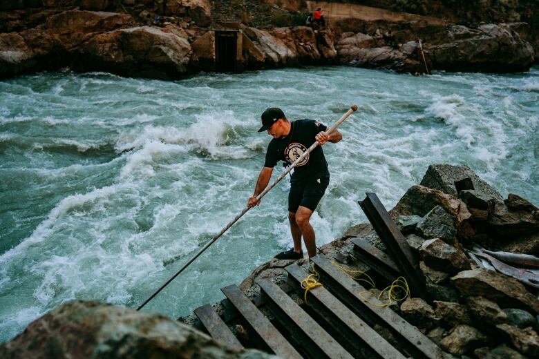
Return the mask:
<path id="1" fill-rule="evenodd" d="M 473 189 L 457 188 L 455 182 L 463 181 Z M 514 194 L 503 199 L 467 166 L 434 164 L 428 167 L 421 184 L 406 191 L 390 216 L 417 255 L 426 289 L 433 298 L 428 303 L 414 293 L 411 298 L 402 296 L 388 302 L 393 311 L 448 353 L 448 358 L 539 356 L 537 206 Z M 364 271 L 375 278 L 379 285 L 369 290 L 379 295 L 386 286 L 384 278 L 354 254 L 357 241 L 387 253 L 370 224 L 352 226 L 320 250 L 334 265 L 355 273 Z M 240 289 L 256 302 L 261 292 L 254 281 L 267 279 L 286 285 L 284 267 L 294 262 L 305 269 L 310 266 L 306 260 L 271 260 L 245 278 Z M 303 302 L 302 296 L 294 299 Z M 381 299 L 388 300 L 384 296 Z M 224 301 L 214 304 L 214 309 L 224 317 Z M 110 304 L 70 302 L 0 345 L 0 356 L 131 358 L 191 353 L 207 358 L 272 357 L 214 342 L 192 328 L 200 328 L 194 315 L 179 320 L 189 326 Z M 241 330 L 238 324 L 228 324 L 233 331 Z M 394 340 L 387 331 L 375 330 L 388 342 Z M 237 335 L 241 337 L 241 333 Z"/>

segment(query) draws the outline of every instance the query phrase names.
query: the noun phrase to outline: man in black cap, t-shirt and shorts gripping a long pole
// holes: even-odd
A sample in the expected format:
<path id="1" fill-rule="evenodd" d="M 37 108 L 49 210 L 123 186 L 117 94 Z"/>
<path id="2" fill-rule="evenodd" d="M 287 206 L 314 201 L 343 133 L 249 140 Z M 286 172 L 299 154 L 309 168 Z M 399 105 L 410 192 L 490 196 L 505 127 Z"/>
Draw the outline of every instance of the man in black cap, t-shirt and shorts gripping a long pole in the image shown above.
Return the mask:
<path id="1" fill-rule="evenodd" d="M 267 146 L 265 163 L 258 175 L 254 193 L 247 201 L 249 208 L 260 204 L 260 200 L 256 201 L 256 196 L 266 188 L 278 161 L 292 164 L 315 141 L 320 144 L 294 168 L 294 174 L 290 179 L 290 193 L 288 193 L 288 221 L 294 247 L 290 251 L 284 251 L 275 256 L 281 260 L 303 258 L 301 250 L 301 237 L 303 237 L 309 258 L 314 257 L 316 242 L 314 230 L 309 221 L 325 188 L 330 183 L 328 162 L 325 162 L 321 146 L 325 142 L 337 143 L 343 136 L 338 130 L 327 135 L 325 133 L 327 127 L 312 119 L 289 122 L 283 111 L 276 107 L 265 110 L 261 120 L 262 127 L 258 132 L 267 131 L 273 139 Z"/>

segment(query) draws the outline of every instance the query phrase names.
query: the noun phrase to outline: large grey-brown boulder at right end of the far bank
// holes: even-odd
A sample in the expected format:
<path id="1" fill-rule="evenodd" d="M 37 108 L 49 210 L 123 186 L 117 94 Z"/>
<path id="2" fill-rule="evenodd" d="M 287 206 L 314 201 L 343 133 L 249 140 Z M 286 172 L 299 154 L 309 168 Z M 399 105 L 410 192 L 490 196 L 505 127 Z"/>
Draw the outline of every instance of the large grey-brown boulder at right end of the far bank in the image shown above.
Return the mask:
<path id="1" fill-rule="evenodd" d="M 435 68 L 514 72 L 528 70 L 533 64 L 533 47 L 507 24 L 486 24 L 464 33 L 460 26 L 457 34 L 454 31 L 455 28 L 450 28 L 448 35 L 453 35 L 455 41 L 430 46 Z"/>

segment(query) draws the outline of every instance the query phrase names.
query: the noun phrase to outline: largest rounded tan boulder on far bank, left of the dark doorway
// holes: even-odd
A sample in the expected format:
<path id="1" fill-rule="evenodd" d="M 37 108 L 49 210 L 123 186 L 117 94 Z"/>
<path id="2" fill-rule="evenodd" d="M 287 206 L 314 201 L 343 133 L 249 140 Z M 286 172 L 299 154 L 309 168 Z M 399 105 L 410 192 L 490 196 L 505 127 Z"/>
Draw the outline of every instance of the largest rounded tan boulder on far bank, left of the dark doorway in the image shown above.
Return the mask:
<path id="1" fill-rule="evenodd" d="M 191 45 L 176 26 L 141 26 L 105 32 L 82 47 L 79 66 L 119 75 L 178 79 L 188 71 Z"/>

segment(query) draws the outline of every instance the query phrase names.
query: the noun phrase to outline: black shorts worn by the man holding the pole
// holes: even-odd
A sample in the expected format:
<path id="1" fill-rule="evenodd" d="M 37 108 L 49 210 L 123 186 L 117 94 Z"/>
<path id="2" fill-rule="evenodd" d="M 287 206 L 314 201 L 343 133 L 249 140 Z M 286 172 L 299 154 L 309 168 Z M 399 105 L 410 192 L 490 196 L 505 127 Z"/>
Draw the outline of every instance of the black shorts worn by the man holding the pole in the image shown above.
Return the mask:
<path id="1" fill-rule="evenodd" d="M 329 176 L 292 183 L 290 193 L 288 193 L 288 211 L 296 213 L 299 206 L 304 206 L 314 212 L 328 184 L 330 184 Z"/>

